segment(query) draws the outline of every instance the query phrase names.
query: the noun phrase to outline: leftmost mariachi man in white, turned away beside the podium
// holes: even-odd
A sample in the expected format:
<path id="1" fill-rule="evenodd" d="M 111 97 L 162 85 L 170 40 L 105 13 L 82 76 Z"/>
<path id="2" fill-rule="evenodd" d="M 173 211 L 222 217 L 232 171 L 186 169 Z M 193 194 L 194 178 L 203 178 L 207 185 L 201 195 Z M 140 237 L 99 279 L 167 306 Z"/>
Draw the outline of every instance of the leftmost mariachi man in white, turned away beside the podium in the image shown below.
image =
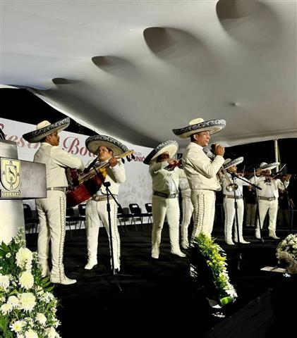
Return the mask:
<path id="1" fill-rule="evenodd" d="M 47 175 L 47 198 L 36 199 L 36 210 L 40 220 L 37 251 L 42 266 L 42 276 L 49 275 L 49 242 L 51 242 L 51 282 L 74 284 L 76 280 L 66 277 L 63 265 L 63 248 L 66 232 L 66 187 L 65 169 L 83 170 L 83 161 L 59 147 L 58 132 L 68 127 L 70 118 L 56 123 L 42 121 L 33 132 L 23 134 L 30 143 L 40 142 L 34 162 L 44 163 Z"/>

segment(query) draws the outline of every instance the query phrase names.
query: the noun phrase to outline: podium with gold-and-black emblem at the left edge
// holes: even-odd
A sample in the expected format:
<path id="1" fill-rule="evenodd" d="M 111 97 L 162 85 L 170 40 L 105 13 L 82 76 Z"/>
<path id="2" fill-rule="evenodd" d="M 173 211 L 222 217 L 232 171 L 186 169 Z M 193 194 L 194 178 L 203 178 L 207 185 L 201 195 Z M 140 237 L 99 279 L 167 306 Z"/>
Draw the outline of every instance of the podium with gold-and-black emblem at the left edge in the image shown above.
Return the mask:
<path id="1" fill-rule="evenodd" d="M 45 165 L 18 160 L 16 142 L 0 139 L 0 242 L 25 232 L 23 199 L 47 197 Z"/>

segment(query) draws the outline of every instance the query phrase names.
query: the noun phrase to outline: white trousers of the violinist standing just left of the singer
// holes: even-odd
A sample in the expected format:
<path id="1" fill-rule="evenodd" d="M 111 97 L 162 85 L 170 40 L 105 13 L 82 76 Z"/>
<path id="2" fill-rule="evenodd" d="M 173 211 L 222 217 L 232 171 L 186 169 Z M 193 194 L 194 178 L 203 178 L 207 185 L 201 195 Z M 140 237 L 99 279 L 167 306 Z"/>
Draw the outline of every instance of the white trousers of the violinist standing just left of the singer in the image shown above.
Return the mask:
<path id="1" fill-rule="evenodd" d="M 179 205 L 178 199 L 165 199 L 152 195 L 152 249 L 158 250 L 165 216 L 169 225 L 171 251 L 179 251 Z"/>

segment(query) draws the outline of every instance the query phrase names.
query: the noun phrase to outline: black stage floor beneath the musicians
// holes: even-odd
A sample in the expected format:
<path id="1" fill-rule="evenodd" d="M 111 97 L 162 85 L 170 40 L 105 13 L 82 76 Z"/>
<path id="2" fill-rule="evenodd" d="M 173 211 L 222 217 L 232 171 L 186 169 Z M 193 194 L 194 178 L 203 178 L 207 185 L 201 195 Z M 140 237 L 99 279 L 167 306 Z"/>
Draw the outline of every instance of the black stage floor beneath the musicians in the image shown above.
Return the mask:
<path id="1" fill-rule="evenodd" d="M 260 303 L 265 293 L 286 289 L 289 296 L 279 296 L 284 301 L 281 306 L 286 301 L 297 299 L 297 288 L 293 294 L 291 291 L 292 280 L 296 282 L 296 275 L 285 277 L 281 273 L 260 270 L 266 265 L 277 265 L 275 249 L 279 241 L 268 239 L 267 230 L 263 232 L 265 243 L 262 244 L 255 239 L 253 228 L 244 229 L 245 239 L 251 244 L 241 246 L 242 260 L 239 261 L 238 247 L 226 245 L 222 229 L 214 227 L 213 236 L 226 251 L 230 280 L 238 293 L 236 302 L 224 306 L 219 313 L 210 308 L 203 291 L 190 280 L 189 259 L 170 253 L 166 225 L 162 232 L 158 260 L 150 257 L 151 225 L 145 225 L 144 229 L 138 227 L 138 231 L 134 226 L 128 226 L 127 232 L 123 230 L 119 229 L 121 273 L 116 277 L 111 275 L 104 228 L 99 230 L 99 264 L 90 271 L 84 269 L 87 261 L 85 230 L 72 231 L 72 238 L 67 231 L 64 254 L 66 275 L 78 282 L 69 286 L 56 285 L 54 288 L 54 294 L 61 303 L 58 309 L 61 337 L 101 337 L 103 332 L 129 336 L 176 335 L 181 332 L 195 334 L 196 337 L 227 337 L 225 334 L 215 334 L 216 327 L 222 331 L 225 325 L 225 330 L 228 330 L 226 325 L 236 318 L 236 313 L 241 311 L 242 314 L 242 310 L 253 302 Z M 293 232 L 296 232 L 296 227 Z M 277 234 L 284 238 L 289 231 L 279 229 Z M 26 237 L 28 248 L 35 251 L 37 234 L 27 234 Z M 273 306 L 277 308 L 275 298 Z M 295 308 L 295 304 L 292 305 Z M 272 307 L 271 304 L 269 306 Z M 285 311 L 282 312 L 284 314 Z M 241 315 L 241 322 L 245 321 L 243 317 Z M 281 330 L 279 316 L 269 323 L 269 330 L 278 330 L 274 323 L 276 320 Z M 264 331 L 267 334 L 267 329 Z M 259 335 L 253 334 L 253 338 L 265 337 L 260 328 L 257 332 Z M 228 337 L 236 337 L 236 334 L 229 333 Z M 241 337 L 252 336 L 246 330 L 246 336 L 243 333 Z"/>

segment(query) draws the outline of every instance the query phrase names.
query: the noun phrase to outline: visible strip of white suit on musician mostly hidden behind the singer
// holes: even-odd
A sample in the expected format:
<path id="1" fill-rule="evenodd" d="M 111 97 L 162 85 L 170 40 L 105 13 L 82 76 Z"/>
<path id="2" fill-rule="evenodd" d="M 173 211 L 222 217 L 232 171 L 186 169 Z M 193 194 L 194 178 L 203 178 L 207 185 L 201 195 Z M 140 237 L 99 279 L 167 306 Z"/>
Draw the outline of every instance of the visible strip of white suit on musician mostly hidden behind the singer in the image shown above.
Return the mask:
<path id="1" fill-rule="evenodd" d="M 188 226 L 190 224 L 190 218 L 193 213 L 193 204 L 190 200 L 190 186 L 188 179 L 181 177 L 179 180 L 179 189 L 181 189 L 181 209 L 183 218 L 181 220 L 181 246 L 183 249 L 188 248 Z"/>

